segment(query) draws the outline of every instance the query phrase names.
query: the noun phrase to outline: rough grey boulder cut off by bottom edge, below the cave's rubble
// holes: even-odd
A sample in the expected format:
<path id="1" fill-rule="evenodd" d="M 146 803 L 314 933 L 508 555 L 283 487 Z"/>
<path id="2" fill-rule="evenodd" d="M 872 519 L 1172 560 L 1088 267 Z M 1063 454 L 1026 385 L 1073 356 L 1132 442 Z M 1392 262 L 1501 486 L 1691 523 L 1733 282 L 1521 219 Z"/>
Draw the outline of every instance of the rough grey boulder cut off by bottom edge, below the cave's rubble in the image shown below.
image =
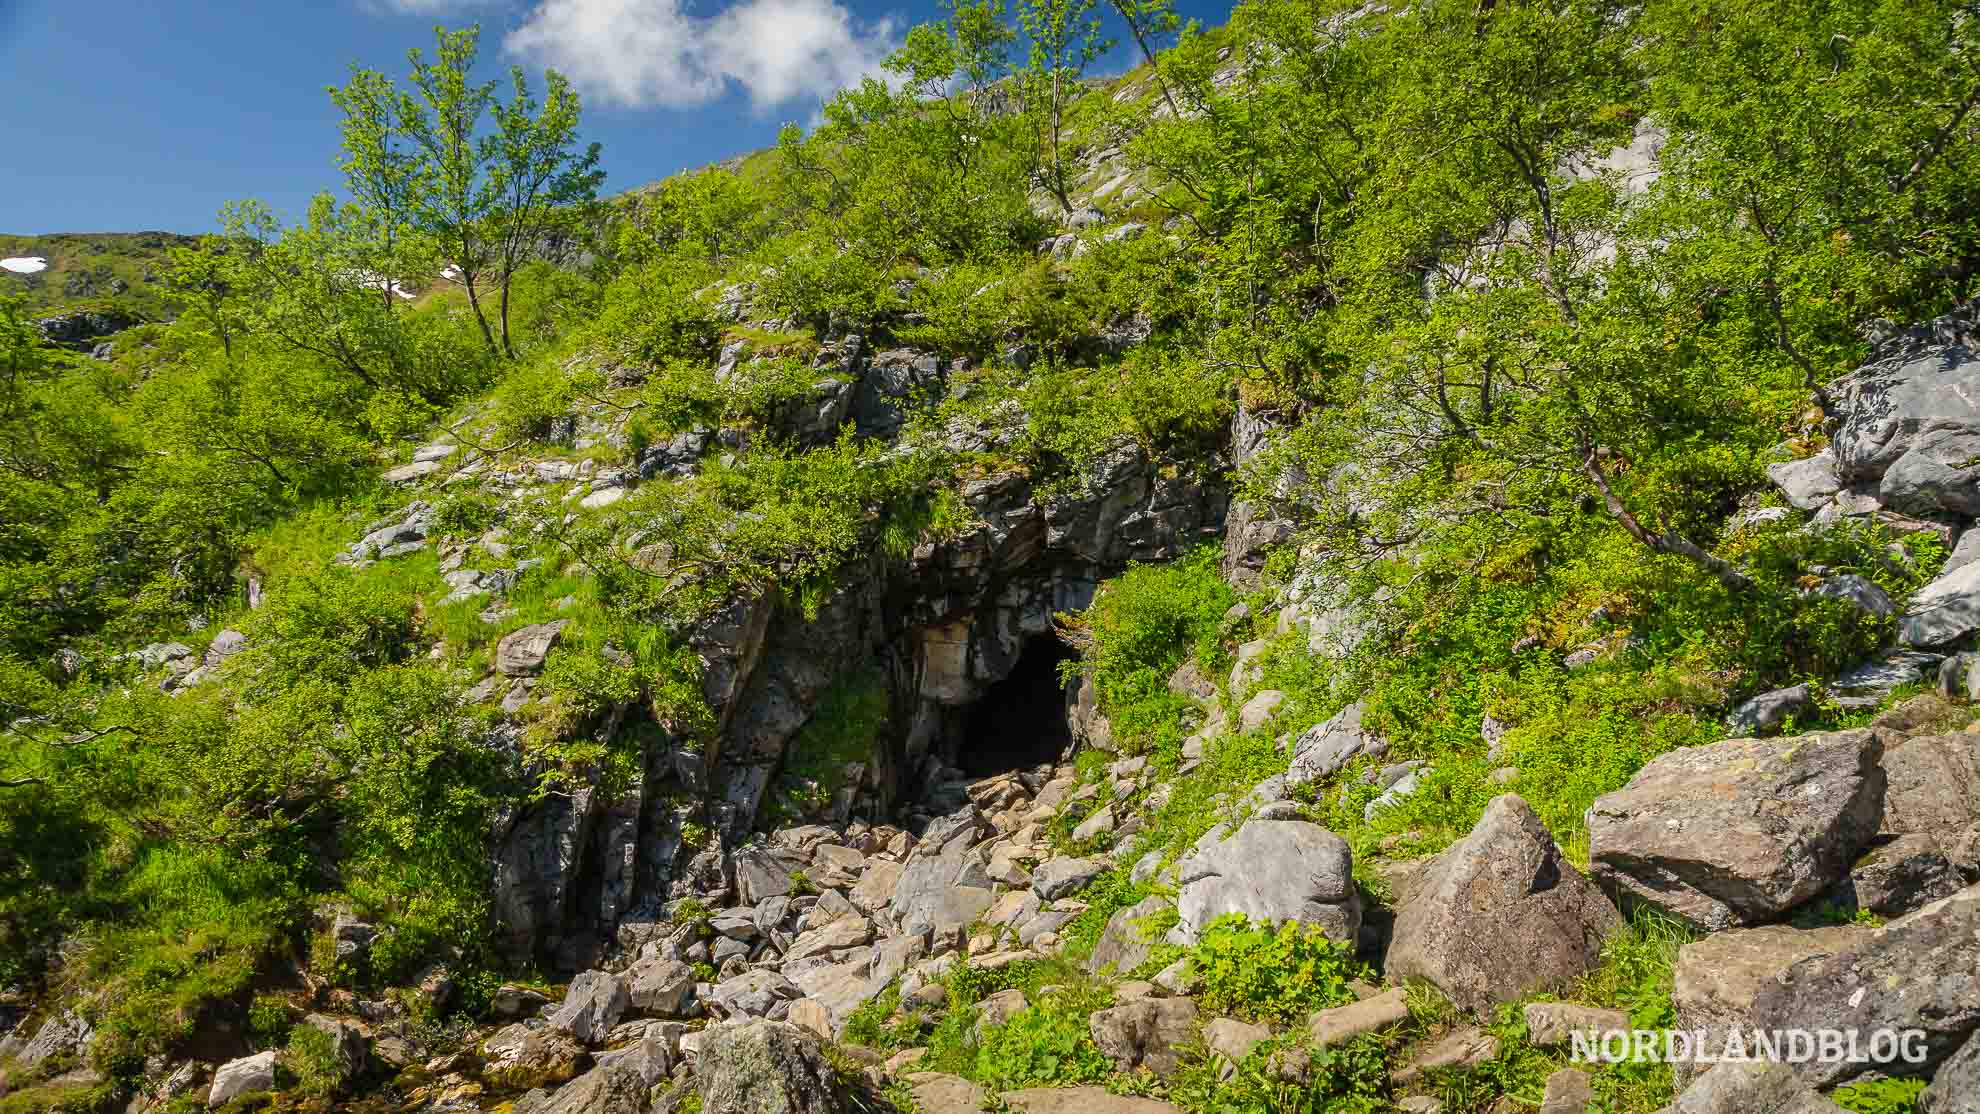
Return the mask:
<path id="1" fill-rule="evenodd" d="M 717 1025 L 695 1057 L 701 1114 L 842 1114 L 818 1037 L 780 1021 Z"/>

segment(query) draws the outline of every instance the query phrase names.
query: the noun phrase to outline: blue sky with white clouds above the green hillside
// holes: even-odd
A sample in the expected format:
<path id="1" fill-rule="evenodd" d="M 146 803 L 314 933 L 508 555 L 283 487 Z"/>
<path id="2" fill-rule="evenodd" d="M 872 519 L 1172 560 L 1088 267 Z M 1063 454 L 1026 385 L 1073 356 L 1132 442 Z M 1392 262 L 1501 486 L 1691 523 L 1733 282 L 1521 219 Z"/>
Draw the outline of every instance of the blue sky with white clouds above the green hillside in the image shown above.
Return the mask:
<path id="1" fill-rule="evenodd" d="M 483 26 L 491 77 L 570 75 L 616 192 L 770 144 L 935 16 L 935 0 L 0 0 L 0 232 L 208 232 L 236 198 L 295 216 L 339 184 L 325 87 L 352 61 L 402 77 L 440 22 Z"/>

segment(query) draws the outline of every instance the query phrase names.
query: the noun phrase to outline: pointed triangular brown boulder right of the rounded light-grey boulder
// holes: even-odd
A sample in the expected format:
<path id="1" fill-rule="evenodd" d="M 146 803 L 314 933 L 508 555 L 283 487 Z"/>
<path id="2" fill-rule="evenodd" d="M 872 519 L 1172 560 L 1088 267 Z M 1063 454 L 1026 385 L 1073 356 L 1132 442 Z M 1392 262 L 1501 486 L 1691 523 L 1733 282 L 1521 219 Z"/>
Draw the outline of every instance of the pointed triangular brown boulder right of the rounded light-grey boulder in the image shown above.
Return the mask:
<path id="1" fill-rule="evenodd" d="M 1424 977 L 1459 1007 L 1487 1013 L 1594 970 L 1620 924 L 1540 817 L 1507 793 L 1418 875 L 1396 910 L 1388 975 Z"/>

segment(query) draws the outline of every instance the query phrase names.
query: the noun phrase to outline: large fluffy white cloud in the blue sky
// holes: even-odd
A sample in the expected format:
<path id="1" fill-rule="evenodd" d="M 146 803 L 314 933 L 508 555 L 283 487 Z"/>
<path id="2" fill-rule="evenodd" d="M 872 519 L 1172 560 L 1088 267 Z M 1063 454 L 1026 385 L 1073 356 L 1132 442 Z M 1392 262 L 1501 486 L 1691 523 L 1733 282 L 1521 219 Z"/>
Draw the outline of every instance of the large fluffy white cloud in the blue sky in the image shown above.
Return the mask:
<path id="1" fill-rule="evenodd" d="M 838 0 L 741 0 L 713 16 L 683 0 L 543 0 L 503 46 L 614 105 L 693 107 L 741 87 L 770 109 L 859 81 L 893 40 L 891 22 L 859 24 Z"/>

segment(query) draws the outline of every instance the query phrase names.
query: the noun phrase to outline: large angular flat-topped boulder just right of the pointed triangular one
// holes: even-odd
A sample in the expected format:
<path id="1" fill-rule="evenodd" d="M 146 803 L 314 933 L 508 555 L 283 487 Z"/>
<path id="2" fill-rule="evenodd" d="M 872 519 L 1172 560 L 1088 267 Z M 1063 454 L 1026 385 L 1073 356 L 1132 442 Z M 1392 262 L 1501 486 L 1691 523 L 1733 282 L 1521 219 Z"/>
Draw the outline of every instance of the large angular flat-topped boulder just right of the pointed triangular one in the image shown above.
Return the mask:
<path id="1" fill-rule="evenodd" d="M 1881 758 L 1869 730 L 1653 758 L 1588 807 L 1592 875 L 1701 932 L 1774 920 L 1841 879 L 1875 835 Z"/>

